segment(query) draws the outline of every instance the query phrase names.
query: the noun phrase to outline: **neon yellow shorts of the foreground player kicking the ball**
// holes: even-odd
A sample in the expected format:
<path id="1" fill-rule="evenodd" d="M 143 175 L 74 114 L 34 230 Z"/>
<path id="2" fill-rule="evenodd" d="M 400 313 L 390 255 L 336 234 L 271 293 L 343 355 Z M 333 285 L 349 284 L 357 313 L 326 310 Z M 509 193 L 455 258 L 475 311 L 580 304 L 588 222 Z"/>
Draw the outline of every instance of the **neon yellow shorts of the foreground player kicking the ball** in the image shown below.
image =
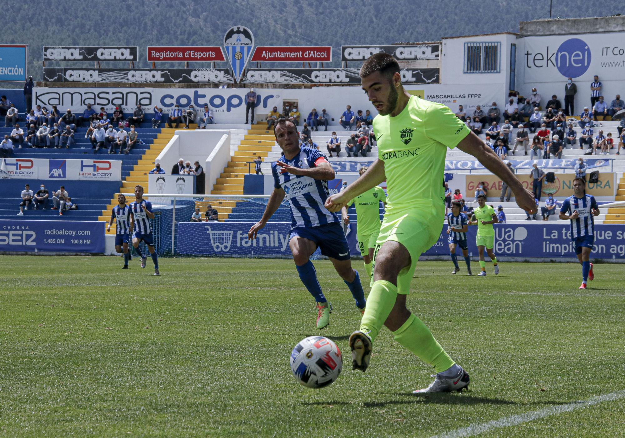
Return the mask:
<path id="1" fill-rule="evenodd" d="M 441 215 L 442 216 L 442 215 Z M 410 293 L 410 282 L 414 269 L 417 266 L 419 256 L 436 243 L 442 230 L 442 221 L 428 215 L 411 213 L 404 216 L 384 216 L 380 234 L 376 241 L 376 250 L 373 253 L 372 270 L 375 270 L 377 251 L 387 241 L 401 243 L 410 253 L 410 266 L 404 267 L 397 276 L 397 293 L 407 295 Z M 371 278 L 371 286 L 373 286 Z"/>

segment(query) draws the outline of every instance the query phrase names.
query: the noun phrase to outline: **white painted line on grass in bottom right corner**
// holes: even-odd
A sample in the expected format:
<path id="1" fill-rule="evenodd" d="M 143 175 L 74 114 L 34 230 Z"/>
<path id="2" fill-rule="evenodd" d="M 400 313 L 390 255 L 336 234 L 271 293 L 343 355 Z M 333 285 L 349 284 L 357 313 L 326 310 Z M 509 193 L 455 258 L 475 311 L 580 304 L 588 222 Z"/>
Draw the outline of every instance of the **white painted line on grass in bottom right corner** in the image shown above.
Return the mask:
<path id="1" fill-rule="evenodd" d="M 447 432 L 445 434 L 436 435 L 432 438 L 459 438 L 470 437 L 477 434 L 490 431 L 491 429 L 498 429 L 499 427 L 516 426 L 517 424 L 526 423 L 528 421 L 534 421 L 539 418 L 544 418 L 552 415 L 559 415 L 562 412 L 571 412 L 576 409 L 582 409 L 601 402 L 609 402 L 612 400 L 618 400 L 625 397 L 625 389 L 622 391 L 611 392 L 610 394 L 603 394 L 602 396 L 591 397 L 588 400 L 572 402 L 567 404 L 559 404 L 556 406 L 549 406 L 538 411 L 525 412 L 524 414 L 517 414 L 509 417 L 503 417 L 498 420 L 489 421 L 486 423 L 470 424 L 467 427 L 461 427 L 455 431 Z"/>

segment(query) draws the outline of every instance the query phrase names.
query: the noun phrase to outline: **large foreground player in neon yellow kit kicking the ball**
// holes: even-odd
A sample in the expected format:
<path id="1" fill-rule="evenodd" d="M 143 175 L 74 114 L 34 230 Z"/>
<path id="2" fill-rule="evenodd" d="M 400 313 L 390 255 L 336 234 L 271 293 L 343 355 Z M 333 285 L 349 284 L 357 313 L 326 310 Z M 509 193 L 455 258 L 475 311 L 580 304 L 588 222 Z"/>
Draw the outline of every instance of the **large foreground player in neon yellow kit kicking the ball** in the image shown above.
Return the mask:
<path id="1" fill-rule="evenodd" d="M 404 91 L 399 64 L 392 56 L 372 55 L 362 64 L 360 77 L 362 89 L 379 112 L 373 121 L 378 159 L 325 204 L 329 211 L 339 211 L 350 199 L 386 179 L 388 202 L 374 252 L 371 292 L 360 330 L 349 337 L 352 367 L 367 369 L 373 341 L 384 324 L 399 344 L 436 370 L 434 382 L 416 392 L 458 391 L 469 384 L 469 374 L 406 308 L 417 260 L 441 235 L 447 147 L 476 157 L 506 182 L 525 211 L 536 211 L 536 202 L 504 162 L 449 108 Z"/>

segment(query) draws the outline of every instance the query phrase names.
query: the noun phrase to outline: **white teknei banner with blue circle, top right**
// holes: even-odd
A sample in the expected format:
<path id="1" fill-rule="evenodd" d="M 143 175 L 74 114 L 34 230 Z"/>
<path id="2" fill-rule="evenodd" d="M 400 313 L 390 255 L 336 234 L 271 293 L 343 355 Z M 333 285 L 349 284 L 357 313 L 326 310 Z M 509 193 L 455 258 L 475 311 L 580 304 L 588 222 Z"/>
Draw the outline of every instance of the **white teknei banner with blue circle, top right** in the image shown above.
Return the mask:
<path id="1" fill-rule="evenodd" d="M 528 36 L 523 38 L 525 82 L 553 82 L 572 77 L 592 82 L 621 81 L 625 68 L 625 33 Z"/>

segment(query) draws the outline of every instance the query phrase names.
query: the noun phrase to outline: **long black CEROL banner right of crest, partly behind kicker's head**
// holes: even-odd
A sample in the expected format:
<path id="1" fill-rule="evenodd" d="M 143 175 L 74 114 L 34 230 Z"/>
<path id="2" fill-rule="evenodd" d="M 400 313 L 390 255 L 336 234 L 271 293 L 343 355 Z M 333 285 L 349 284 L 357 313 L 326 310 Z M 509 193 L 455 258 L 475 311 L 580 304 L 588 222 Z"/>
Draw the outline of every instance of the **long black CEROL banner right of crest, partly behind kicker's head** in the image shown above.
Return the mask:
<path id="1" fill-rule="evenodd" d="M 438 68 L 401 69 L 404 84 L 438 84 Z M 244 84 L 345 84 L 360 85 L 360 69 L 262 68 L 247 69 Z"/>

